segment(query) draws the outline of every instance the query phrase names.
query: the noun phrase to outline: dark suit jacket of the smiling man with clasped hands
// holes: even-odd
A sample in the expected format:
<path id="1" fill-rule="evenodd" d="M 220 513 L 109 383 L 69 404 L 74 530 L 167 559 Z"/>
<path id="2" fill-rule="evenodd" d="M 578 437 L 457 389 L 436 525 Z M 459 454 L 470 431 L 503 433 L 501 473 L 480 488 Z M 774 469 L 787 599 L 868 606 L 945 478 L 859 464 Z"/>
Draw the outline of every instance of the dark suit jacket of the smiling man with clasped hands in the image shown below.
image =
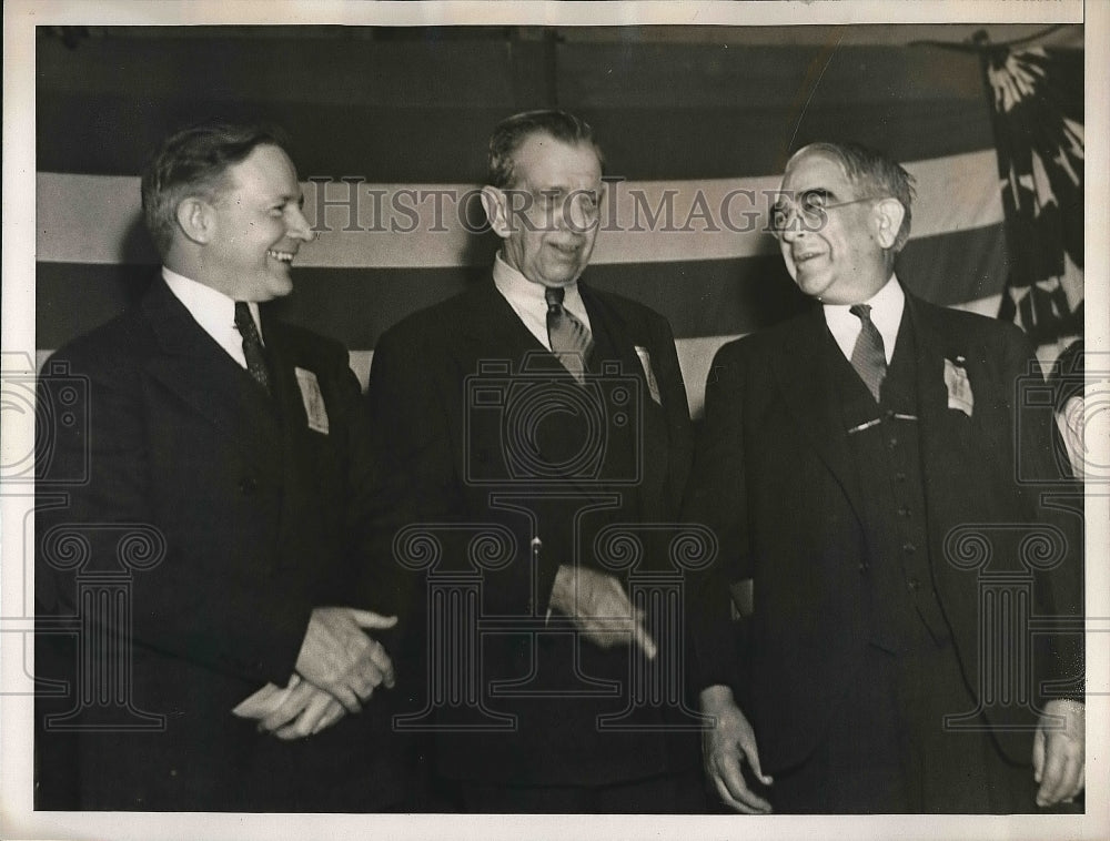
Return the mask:
<path id="1" fill-rule="evenodd" d="M 111 635 L 130 621 L 121 661 L 130 673 L 112 692 L 162 717 L 154 731 L 128 730 L 152 719 L 115 709 L 123 701 L 113 695 L 109 709 L 75 719 L 107 721 L 107 732 L 41 733 L 40 797 L 51 808 L 329 808 L 336 786 L 372 764 L 371 731 L 387 727 L 373 725 L 372 711 L 296 744 L 259 736 L 231 713 L 264 683 L 286 683 L 313 607 L 392 609 L 362 577 L 379 492 L 346 352 L 294 326 L 263 330 L 273 401 L 161 278 L 137 307 L 46 364 L 40 402 L 78 420 L 43 430 L 39 449 L 40 627 L 88 620 L 93 608 L 77 604 L 80 588 L 122 575 L 130 618 L 113 612 L 100 624 Z M 296 368 L 315 376 L 326 434 L 309 427 Z M 65 397 L 71 384 L 75 402 Z M 82 470 L 85 482 L 67 484 Z M 78 566 L 65 563 L 73 540 L 88 546 Z M 89 680 L 73 671 L 73 646 L 71 636 L 40 634 L 40 677 L 53 665 L 79 687 Z M 94 669 L 115 668 L 112 650 L 90 650 Z M 44 707 L 78 703 L 74 692 Z M 314 752 L 327 744 L 354 757 L 342 773 L 332 770 L 339 759 Z M 69 790 L 64 769 L 75 772 Z M 363 788 L 373 808 L 374 789 Z"/>

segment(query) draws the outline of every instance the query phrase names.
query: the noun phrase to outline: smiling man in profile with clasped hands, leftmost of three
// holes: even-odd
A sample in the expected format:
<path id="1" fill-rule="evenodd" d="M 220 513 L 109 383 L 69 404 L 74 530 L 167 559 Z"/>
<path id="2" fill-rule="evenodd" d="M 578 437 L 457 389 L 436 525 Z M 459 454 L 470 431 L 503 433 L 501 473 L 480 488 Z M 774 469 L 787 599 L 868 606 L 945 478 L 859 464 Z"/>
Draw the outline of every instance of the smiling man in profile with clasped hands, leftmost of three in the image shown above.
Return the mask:
<path id="1" fill-rule="evenodd" d="M 161 275 L 39 382 L 83 419 L 38 450 L 39 678 L 69 685 L 39 808 L 387 808 L 364 407 L 339 343 L 259 312 L 314 239 L 296 171 L 276 131 L 204 124 L 142 199 Z"/>

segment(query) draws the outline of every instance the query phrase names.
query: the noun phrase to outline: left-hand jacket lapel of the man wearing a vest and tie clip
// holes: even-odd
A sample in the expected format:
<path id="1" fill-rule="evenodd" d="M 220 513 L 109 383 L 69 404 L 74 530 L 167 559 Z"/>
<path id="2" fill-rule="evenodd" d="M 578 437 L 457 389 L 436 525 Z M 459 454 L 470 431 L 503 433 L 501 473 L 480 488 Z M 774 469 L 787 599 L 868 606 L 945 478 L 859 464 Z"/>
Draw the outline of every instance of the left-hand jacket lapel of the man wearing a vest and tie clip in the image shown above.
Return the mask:
<path id="1" fill-rule="evenodd" d="M 781 346 L 771 355 L 771 365 L 795 422 L 862 521 L 862 487 L 848 452 L 841 397 L 828 357 L 831 351 L 839 351 L 827 335 L 820 306 L 799 316 L 798 327 L 779 333 Z M 878 416 L 878 408 L 875 414 Z"/>

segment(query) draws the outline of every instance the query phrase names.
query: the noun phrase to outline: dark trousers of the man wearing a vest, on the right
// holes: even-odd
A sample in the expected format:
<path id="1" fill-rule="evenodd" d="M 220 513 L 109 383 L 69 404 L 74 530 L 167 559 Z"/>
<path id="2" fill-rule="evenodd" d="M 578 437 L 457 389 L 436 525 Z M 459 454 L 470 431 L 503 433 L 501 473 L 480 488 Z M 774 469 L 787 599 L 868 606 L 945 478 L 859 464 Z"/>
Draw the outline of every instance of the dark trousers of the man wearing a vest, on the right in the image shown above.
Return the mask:
<path id="1" fill-rule="evenodd" d="M 868 647 L 845 697 L 829 702 L 814 754 L 775 774 L 776 812 L 1037 811 L 1031 764 L 1008 761 L 986 727 L 945 727 L 945 716 L 976 708 L 950 644 L 924 637 L 898 655 Z"/>

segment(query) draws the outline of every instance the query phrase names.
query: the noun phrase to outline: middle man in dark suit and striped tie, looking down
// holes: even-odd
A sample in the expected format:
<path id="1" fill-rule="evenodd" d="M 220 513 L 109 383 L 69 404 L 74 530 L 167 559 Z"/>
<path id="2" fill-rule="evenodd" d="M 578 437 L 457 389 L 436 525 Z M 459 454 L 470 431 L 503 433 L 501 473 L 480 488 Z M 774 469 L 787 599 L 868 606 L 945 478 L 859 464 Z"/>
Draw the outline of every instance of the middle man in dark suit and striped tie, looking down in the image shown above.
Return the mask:
<path id="1" fill-rule="evenodd" d="M 406 477 L 417 524 L 398 560 L 414 566 L 420 537 L 440 558 L 421 570 L 426 706 L 398 727 L 435 733 L 437 773 L 468 811 L 702 804 L 673 602 L 634 592 L 676 574 L 688 406 L 667 322 L 579 282 L 603 189 L 579 119 L 502 122 L 482 191 L 503 240 L 492 277 L 374 352 L 382 458 Z M 472 612 L 457 627 L 445 604 Z M 645 675 L 666 698 L 634 686 Z"/>

